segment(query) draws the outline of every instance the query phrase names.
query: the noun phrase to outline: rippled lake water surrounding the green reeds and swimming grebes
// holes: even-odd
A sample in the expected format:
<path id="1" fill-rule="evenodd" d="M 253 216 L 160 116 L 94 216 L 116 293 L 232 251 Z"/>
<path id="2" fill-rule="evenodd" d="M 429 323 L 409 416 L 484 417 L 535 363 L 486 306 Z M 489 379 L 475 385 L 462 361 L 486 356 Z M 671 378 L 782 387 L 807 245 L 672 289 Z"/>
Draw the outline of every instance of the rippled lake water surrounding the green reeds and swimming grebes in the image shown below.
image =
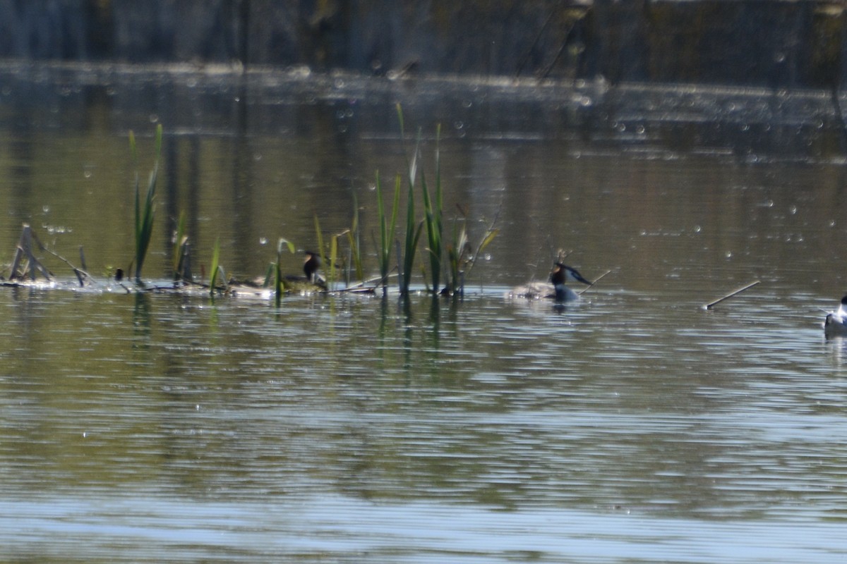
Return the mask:
<path id="1" fill-rule="evenodd" d="M 0 68 L 0 260 L 26 222 L 97 286 L 0 291 L 0 560 L 842 562 L 847 291 L 827 93 Z M 128 294 L 133 171 L 237 277 L 362 222 L 435 123 L 462 300 Z M 404 205 L 405 205 L 405 200 Z M 505 298 L 558 249 L 579 304 Z M 297 272 L 302 257 L 285 257 Z M 716 308 L 737 287 L 760 283 Z M 423 286 L 423 277 L 415 280 Z M 63 284 L 63 286 L 65 286 Z"/>

